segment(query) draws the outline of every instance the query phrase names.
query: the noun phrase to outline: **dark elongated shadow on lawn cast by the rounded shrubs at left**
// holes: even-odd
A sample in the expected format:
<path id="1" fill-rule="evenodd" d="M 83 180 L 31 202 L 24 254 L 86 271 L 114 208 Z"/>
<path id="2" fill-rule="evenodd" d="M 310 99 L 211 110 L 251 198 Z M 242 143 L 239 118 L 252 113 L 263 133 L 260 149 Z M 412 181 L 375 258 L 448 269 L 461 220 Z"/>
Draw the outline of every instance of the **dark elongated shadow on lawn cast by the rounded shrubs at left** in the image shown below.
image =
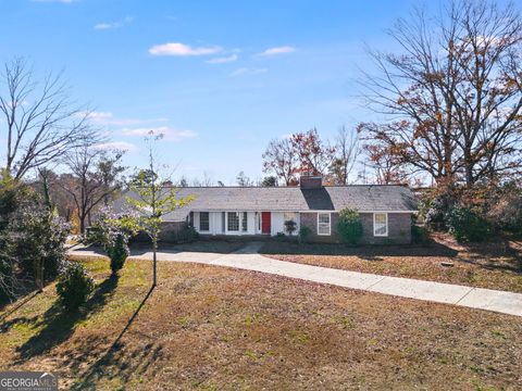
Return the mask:
<path id="1" fill-rule="evenodd" d="M 74 313 L 63 310 L 57 300 L 54 304 L 47 310 L 40 320 L 34 327 L 44 326 L 42 329 L 23 345 L 16 349 L 20 355 L 16 364 L 21 364 L 34 356 L 48 352 L 53 346 L 66 341 L 74 331 L 75 325 L 86 319 L 90 314 L 99 311 L 108 300 L 113 295 L 117 287 L 117 276 L 111 276 L 101 282 L 95 290 L 87 303 Z M 23 319 L 13 319 L 13 323 L 24 321 Z M 29 319 L 30 321 L 30 319 Z"/>

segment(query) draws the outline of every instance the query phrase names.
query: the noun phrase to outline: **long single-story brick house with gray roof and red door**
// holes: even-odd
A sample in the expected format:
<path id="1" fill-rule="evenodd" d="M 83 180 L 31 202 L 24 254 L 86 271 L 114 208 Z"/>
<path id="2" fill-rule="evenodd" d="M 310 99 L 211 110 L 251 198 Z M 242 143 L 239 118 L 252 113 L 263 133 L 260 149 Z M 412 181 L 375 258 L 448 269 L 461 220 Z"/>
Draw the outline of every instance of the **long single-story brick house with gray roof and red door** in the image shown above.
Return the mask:
<path id="1" fill-rule="evenodd" d="M 188 205 L 164 216 L 163 240 L 181 222 L 208 236 L 276 236 L 285 222 L 307 226 L 310 240 L 338 242 L 339 211 L 359 211 L 363 243 L 410 243 L 411 215 L 417 201 L 406 186 L 323 186 L 320 176 L 303 176 L 297 187 L 179 188 L 179 198 L 192 195 Z M 281 234 L 279 234 L 281 235 Z"/>

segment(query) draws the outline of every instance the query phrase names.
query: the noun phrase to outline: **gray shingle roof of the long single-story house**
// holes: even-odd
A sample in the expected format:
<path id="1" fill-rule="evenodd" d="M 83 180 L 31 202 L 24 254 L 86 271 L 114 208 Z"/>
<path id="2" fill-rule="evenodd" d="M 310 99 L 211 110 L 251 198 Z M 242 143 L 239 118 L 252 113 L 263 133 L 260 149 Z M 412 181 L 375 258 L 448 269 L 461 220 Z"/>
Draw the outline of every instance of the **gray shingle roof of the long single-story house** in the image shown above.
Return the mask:
<path id="1" fill-rule="evenodd" d="M 127 193 L 127 195 L 132 195 Z M 325 186 L 321 189 L 299 187 L 197 187 L 179 188 L 179 198 L 194 195 L 185 207 L 165 216 L 165 220 L 184 219 L 190 211 L 340 211 L 359 212 L 417 211 L 417 200 L 405 186 L 353 185 Z M 116 209 L 123 206 L 116 201 Z"/>

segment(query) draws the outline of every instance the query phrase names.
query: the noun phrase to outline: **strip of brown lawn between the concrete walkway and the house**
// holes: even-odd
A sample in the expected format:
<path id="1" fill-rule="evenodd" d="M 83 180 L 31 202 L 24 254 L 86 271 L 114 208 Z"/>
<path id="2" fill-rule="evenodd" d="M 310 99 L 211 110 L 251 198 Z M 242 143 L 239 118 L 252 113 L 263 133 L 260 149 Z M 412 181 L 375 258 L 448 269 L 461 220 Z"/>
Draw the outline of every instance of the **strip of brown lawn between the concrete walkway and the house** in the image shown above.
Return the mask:
<path id="1" fill-rule="evenodd" d="M 522 241 L 462 245 L 438 235 L 426 245 L 348 247 L 266 242 L 282 261 L 386 276 L 522 292 Z"/>

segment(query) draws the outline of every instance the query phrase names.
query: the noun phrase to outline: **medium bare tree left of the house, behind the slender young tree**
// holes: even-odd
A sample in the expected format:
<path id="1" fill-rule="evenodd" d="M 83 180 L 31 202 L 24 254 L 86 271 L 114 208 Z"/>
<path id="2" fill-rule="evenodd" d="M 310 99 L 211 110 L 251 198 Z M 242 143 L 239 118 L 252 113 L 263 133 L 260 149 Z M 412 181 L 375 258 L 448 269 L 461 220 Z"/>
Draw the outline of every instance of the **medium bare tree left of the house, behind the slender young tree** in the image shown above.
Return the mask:
<path id="1" fill-rule="evenodd" d="M 64 157 L 72 173 L 72 180 L 61 184 L 76 205 L 80 234 L 85 232 L 87 218 L 101 202 L 108 203 L 110 198 L 121 189 L 122 152 L 107 151 L 89 143 L 75 148 Z"/>

